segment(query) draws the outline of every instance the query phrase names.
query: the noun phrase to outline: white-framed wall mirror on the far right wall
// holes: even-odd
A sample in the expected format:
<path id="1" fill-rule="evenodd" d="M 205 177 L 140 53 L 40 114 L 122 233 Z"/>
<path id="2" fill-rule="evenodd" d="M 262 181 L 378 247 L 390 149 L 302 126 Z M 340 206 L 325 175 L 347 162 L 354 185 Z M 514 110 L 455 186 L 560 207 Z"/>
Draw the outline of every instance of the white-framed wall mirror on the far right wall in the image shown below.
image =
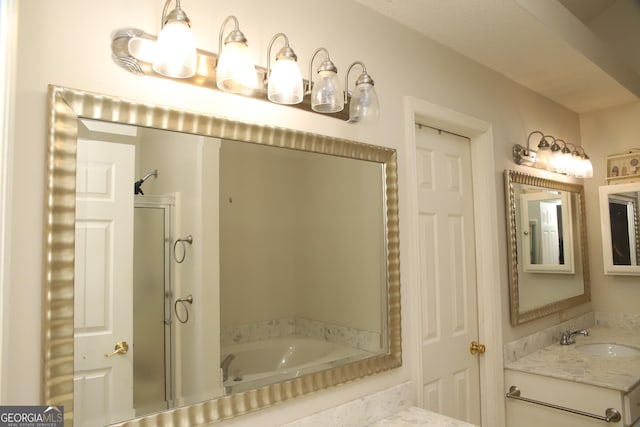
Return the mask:
<path id="1" fill-rule="evenodd" d="M 599 191 L 604 273 L 640 275 L 640 183 L 606 185 Z"/>

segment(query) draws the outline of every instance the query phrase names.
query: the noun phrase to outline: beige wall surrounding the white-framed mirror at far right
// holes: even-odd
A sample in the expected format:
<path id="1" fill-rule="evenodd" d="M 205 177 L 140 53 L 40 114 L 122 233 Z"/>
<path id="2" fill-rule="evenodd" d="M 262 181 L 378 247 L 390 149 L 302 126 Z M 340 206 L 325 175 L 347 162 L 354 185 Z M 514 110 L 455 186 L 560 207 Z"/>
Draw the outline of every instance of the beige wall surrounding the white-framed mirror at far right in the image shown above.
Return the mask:
<path id="1" fill-rule="evenodd" d="M 582 114 L 580 129 L 593 162 L 593 179 L 585 182 L 593 308 L 596 312 L 640 314 L 638 277 L 604 274 L 598 205 L 598 187 L 607 184 L 607 156 L 640 148 L 640 102 Z"/>

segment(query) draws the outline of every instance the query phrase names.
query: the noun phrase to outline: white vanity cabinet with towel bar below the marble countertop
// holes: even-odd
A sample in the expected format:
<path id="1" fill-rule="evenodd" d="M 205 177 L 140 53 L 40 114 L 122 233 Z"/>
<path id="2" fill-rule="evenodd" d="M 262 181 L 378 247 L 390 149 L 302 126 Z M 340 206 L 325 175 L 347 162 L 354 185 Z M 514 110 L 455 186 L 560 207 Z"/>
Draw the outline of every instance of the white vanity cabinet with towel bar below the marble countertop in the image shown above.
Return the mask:
<path id="1" fill-rule="evenodd" d="M 566 367 L 571 370 L 571 366 Z M 542 405 L 506 398 L 508 427 L 595 427 L 631 426 L 640 416 L 640 387 L 629 393 L 575 381 L 551 378 L 527 372 L 505 370 L 505 392 L 511 386 L 521 397 L 551 403 L 590 414 L 605 416 L 607 408 L 622 415 L 619 422 L 606 422 Z M 637 425 L 640 425 L 638 423 Z"/>

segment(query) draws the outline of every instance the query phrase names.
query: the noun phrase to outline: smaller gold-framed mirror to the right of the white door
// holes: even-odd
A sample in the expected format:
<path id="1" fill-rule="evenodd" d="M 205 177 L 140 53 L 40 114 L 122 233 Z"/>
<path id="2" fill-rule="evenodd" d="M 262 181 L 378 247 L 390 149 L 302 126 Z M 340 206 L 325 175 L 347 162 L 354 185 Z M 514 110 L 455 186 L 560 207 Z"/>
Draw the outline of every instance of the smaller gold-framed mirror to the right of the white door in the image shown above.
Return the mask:
<path id="1" fill-rule="evenodd" d="M 505 171 L 511 324 L 590 301 L 582 185 Z"/>

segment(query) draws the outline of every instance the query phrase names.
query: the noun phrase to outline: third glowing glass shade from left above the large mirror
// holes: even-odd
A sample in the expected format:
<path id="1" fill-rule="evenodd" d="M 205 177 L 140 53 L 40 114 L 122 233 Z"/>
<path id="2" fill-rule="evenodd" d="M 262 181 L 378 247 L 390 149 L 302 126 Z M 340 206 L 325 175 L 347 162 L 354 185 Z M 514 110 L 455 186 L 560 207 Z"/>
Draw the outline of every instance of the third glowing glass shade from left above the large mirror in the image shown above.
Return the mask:
<path id="1" fill-rule="evenodd" d="M 267 98 L 276 104 L 299 104 L 304 96 L 302 74 L 293 58 L 280 58 L 271 68 Z"/>

